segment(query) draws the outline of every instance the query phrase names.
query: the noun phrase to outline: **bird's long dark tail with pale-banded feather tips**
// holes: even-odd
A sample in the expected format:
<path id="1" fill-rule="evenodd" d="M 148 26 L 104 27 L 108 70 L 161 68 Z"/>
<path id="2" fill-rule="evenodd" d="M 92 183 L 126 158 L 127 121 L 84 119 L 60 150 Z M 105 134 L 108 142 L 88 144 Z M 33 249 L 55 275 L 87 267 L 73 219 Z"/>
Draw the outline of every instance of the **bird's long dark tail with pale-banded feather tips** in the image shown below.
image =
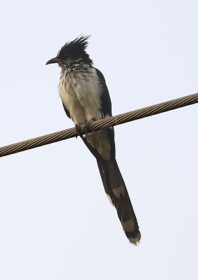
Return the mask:
<path id="1" fill-rule="evenodd" d="M 137 218 L 116 160 L 98 162 L 105 193 L 116 207 L 117 214 L 130 243 L 137 245 L 141 238 Z"/>

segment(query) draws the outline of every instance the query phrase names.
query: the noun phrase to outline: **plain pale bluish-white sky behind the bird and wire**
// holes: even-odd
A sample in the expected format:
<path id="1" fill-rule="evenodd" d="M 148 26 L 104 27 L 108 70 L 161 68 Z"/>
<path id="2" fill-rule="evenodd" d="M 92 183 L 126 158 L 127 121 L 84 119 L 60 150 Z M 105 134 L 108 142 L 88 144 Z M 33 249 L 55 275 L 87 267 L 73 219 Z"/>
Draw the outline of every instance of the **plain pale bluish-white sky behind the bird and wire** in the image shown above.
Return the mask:
<path id="1" fill-rule="evenodd" d="M 197 1 L 4 1 L 0 146 L 73 127 L 45 66 L 67 41 L 105 76 L 113 115 L 198 92 Z M 197 104 L 115 127 L 142 232 L 125 237 L 77 139 L 0 160 L 0 278 L 197 279 Z"/>

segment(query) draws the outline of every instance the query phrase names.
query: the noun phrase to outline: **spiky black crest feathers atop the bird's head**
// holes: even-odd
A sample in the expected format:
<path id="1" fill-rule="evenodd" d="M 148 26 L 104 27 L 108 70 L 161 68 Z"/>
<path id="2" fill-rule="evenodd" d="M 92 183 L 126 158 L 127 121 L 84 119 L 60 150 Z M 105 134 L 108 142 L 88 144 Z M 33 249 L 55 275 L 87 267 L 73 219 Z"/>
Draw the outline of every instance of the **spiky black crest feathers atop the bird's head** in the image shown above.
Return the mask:
<path id="1" fill-rule="evenodd" d="M 79 59 L 82 58 L 85 63 L 92 65 L 93 62 L 86 53 L 86 47 L 88 45 L 88 39 L 90 36 L 79 36 L 75 40 L 67 42 L 56 55 L 61 60 Z"/>

